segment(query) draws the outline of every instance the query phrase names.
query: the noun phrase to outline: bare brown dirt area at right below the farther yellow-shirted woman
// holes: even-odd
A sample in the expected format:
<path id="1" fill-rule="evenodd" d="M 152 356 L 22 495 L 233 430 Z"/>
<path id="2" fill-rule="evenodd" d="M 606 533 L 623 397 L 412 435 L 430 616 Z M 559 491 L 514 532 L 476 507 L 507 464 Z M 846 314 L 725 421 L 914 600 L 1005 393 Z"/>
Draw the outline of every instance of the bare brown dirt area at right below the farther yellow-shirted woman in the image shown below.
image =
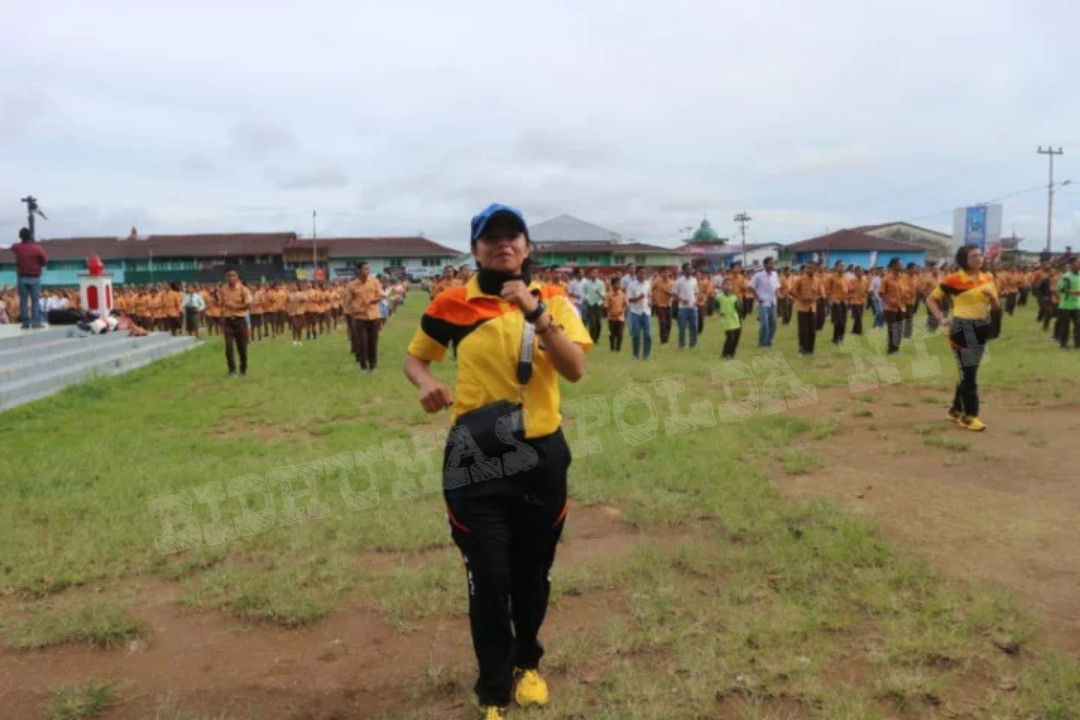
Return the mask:
<path id="1" fill-rule="evenodd" d="M 1080 410 L 996 393 L 989 430 L 971 433 L 904 389 L 873 405 L 822 399 L 807 413 L 842 406 L 831 411 L 842 429 L 812 444 L 822 470 L 780 479 L 783 492 L 835 498 L 946 573 L 1007 588 L 1045 624 L 1042 642 L 1080 651 Z M 855 417 L 860 405 L 874 415 Z"/>

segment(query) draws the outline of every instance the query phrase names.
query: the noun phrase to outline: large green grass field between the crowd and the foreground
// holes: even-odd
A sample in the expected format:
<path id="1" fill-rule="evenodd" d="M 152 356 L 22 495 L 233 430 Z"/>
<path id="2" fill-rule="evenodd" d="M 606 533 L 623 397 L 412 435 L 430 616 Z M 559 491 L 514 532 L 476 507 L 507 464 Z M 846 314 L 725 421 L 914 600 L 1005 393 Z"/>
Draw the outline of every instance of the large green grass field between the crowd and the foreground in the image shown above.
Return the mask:
<path id="1" fill-rule="evenodd" d="M 211 340 L 0 415 L 0 668 L 16 651 L 152 646 L 152 623 L 118 592 L 146 579 L 190 612 L 297 631 L 356 607 L 403 639 L 460 619 L 438 494 L 446 418 L 423 413 L 400 370 L 421 308 L 413 298 L 392 320 L 375 375 L 356 371 L 338 334 L 257 343 L 249 377 L 227 380 Z M 1040 623 L 1008 593 L 945 575 L 834 503 L 778 492 L 783 478 L 828 472 L 820 448 L 846 441 L 838 416 L 875 423 L 933 404 L 943 415 L 955 375 L 944 338 L 882 366 L 869 344 L 852 353 L 853 339 L 802 358 L 792 328 L 771 352 L 755 335 L 734 363 L 718 359 L 723 338 L 707 327 L 697 351 L 654 345 L 648 363 L 631 359 L 629 338 L 612 355 L 605 337 L 586 379 L 564 388 L 576 512 L 609 510 L 637 540 L 556 560 L 553 615 L 591 597 L 607 611 L 545 634 L 558 692 L 529 717 L 1080 717 L 1080 664 L 1052 642 L 1032 649 Z M 1080 352 L 1057 351 L 1025 314 L 1007 322 L 980 380 L 986 398 L 1080 409 L 1078 367 Z M 973 454 L 946 423 L 913 430 L 928 454 Z M 468 643 L 454 655 L 417 656 L 382 717 L 471 717 L 441 704 L 471 684 Z M 123 683 L 55 680 L 52 704 L 28 717 L 127 717 Z M 158 716 L 283 717 L 222 712 Z"/>

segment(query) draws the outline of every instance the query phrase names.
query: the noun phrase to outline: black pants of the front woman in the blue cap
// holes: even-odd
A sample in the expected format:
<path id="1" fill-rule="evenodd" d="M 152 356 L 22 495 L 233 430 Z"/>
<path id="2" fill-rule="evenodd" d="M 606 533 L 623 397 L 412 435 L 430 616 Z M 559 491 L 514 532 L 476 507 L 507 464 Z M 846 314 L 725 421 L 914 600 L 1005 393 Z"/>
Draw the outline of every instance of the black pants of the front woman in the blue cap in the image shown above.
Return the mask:
<path id="1" fill-rule="evenodd" d="M 536 669 L 543 656 L 538 635 L 566 521 L 570 448 L 561 430 L 527 444 L 537 453 L 534 467 L 485 481 L 501 487 L 446 495 L 450 535 L 465 560 L 482 706 L 509 705 L 514 668 Z"/>

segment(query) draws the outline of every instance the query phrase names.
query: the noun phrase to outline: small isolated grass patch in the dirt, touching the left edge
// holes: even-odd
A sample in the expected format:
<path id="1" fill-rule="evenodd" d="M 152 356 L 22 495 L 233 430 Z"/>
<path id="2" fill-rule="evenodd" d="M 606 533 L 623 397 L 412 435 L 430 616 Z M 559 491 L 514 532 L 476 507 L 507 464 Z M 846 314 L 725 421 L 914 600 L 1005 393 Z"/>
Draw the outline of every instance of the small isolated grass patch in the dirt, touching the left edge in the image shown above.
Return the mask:
<path id="1" fill-rule="evenodd" d="M 15 650 L 68 643 L 109 649 L 143 636 L 147 627 L 124 608 L 95 602 L 73 610 L 46 606 L 28 619 L 10 624 L 5 630 L 8 644 Z"/>

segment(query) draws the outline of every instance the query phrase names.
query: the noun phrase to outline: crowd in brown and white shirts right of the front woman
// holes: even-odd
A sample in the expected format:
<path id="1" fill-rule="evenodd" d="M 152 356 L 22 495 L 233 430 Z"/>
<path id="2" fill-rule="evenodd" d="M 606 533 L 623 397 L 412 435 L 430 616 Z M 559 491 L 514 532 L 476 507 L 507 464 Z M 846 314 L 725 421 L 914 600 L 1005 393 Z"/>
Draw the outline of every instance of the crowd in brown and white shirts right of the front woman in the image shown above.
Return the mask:
<path id="1" fill-rule="evenodd" d="M 1051 340 L 1068 345 L 1069 327 L 1076 335 L 1077 300 L 1076 259 L 1068 266 L 1041 263 L 1035 268 L 987 268 L 1001 307 L 990 314 L 990 337 L 1000 335 L 1002 318 L 1018 307 L 1034 301 L 1037 320 Z M 571 299 L 589 329 L 593 342 L 599 342 L 605 325 L 610 352 L 621 352 L 630 331 L 631 353 L 646 359 L 652 352 L 652 320 L 656 320 L 661 345 L 675 335 L 677 347 L 694 348 L 706 325 L 713 320 L 725 335 L 723 357 L 734 357 L 745 323 L 755 316 L 757 344 L 770 348 L 778 326 L 794 323 L 798 352 L 812 355 L 818 334 L 831 329 L 834 344 L 848 334 L 863 335 L 866 327 L 887 328 L 887 352 L 900 352 L 910 339 L 920 304 L 958 266 L 906 266 L 893 258 L 885 268 L 863 269 L 843 262 L 832 266 L 807 263 L 778 270 L 773 259 L 744 271 L 741 264 L 706 272 L 684 264 L 672 268 L 644 268 L 631 263 L 602 275 L 600 270 L 540 270 L 535 279 L 562 288 Z M 471 269 L 446 268 L 430 285 L 432 297 L 468 283 Z M 943 311 L 950 299 L 941 301 Z M 755 313 L 756 311 L 756 313 Z M 937 318 L 927 312 L 927 329 L 935 331 Z M 676 330 L 673 334 L 673 330 Z M 1075 337 L 1074 347 L 1080 347 Z"/>

